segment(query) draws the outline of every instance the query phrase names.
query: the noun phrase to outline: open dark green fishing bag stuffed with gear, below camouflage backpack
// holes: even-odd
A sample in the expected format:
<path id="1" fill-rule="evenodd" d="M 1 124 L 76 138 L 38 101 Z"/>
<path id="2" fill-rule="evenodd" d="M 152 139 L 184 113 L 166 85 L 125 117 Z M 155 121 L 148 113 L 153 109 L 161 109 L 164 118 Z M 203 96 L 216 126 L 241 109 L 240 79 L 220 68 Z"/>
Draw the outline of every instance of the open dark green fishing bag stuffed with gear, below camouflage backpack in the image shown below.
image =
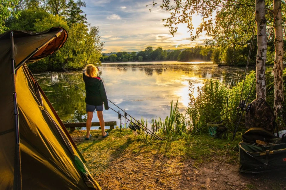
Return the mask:
<path id="1" fill-rule="evenodd" d="M 286 169 L 286 141 L 263 128 L 251 128 L 239 143 L 240 172 L 259 173 Z"/>

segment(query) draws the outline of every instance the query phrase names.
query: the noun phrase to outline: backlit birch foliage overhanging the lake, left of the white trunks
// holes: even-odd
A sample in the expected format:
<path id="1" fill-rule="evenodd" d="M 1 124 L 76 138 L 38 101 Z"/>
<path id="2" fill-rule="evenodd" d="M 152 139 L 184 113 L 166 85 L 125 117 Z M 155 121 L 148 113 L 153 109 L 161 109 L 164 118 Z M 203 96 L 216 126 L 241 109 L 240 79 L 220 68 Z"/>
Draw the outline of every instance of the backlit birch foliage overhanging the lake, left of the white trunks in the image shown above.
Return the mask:
<path id="1" fill-rule="evenodd" d="M 266 19 L 268 25 L 272 26 L 273 1 L 265 0 L 265 3 L 267 9 Z M 283 8 L 285 10 L 285 3 L 282 2 L 281 6 L 282 10 Z M 208 48 L 216 50 L 212 51 L 214 52 L 212 57 L 216 57 L 214 59 L 216 60 L 215 63 L 241 66 L 247 62 L 253 26 L 255 24 L 255 1 L 163 0 L 160 7 L 170 12 L 170 17 L 163 19 L 164 26 L 169 28 L 170 34 L 174 35 L 177 32 L 178 25 L 184 23 L 187 24 L 192 40 L 198 38 L 203 31 L 206 32 L 207 36 L 211 37 L 205 43 Z M 192 24 L 192 18 L 195 15 L 200 15 L 202 18 L 202 22 L 197 28 L 194 28 Z M 283 19 L 284 15 L 282 16 Z M 271 27 L 268 28 L 268 34 L 270 30 Z M 274 32 L 270 36 L 269 44 L 274 41 L 273 38 Z M 256 35 L 254 42 L 256 42 Z M 255 64 L 256 52 L 257 46 L 254 45 L 250 59 L 251 64 Z"/>

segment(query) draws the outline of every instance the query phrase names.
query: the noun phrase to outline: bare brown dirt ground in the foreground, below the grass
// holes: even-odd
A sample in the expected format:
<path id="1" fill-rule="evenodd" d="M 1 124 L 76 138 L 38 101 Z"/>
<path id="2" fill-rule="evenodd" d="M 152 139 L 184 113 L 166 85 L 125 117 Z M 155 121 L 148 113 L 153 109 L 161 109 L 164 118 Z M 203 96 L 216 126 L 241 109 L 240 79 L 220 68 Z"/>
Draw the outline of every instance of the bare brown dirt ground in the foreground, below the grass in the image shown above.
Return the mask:
<path id="1" fill-rule="evenodd" d="M 85 143 L 82 137 L 73 136 L 73 138 L 77 144 Z M 79 149 L 82 151 L 81 146 Z M 106 153 L 104 148 L 100 151 L 102 154 Z M 100 165 L 101 169 L 95 169 L 91 164 L 100 160 L 87 158 L 88 169 L 104 190 L 286 189 L 285 172 L 244 174 L 239 173 L 238 163 L 226 163 L 223 159 L 206 159 L 197 164 L 194 159 L 186 156 L 166 157 L 152 149 L 142 151 L 126 148 L 119 151 L 121 151 L 119 154 L 111 154 L 108 161 L 105 158 Z M 91 155 L 83 152 L 83 156 Z"/>

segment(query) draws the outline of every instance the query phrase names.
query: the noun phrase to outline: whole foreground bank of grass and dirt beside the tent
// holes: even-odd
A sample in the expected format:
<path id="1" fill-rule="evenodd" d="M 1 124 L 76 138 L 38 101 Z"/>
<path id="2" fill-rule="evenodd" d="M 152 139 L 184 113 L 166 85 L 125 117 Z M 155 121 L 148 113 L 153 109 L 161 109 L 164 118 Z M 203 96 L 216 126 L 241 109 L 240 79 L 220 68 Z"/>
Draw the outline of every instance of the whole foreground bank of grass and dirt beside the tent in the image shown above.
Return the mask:
<path id="1" fill-rule="evenodd" d="M 110 136 L 102 138 L 99 130 L 92 130 L 88 141 L 84 140 L 85 131 L 71 133 L 87 161 L 86 166 L 103 189 L 286 187 L 284 175 L 282 180 L 277 176 L 239 174 L 237 145 L 241 134 L 234 141 L 202 134 L 144 142 L 131 130 L 108 131 Z"/>

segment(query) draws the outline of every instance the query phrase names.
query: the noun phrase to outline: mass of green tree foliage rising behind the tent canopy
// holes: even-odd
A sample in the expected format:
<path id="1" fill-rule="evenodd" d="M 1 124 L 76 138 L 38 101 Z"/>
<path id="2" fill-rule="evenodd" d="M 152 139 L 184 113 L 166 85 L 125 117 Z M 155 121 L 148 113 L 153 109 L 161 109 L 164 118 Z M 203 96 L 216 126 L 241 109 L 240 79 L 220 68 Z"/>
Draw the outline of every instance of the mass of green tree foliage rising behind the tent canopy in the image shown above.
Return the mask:
<path id="1" fill-rule="evenodd" d="M 99 36 L 99 28 L 86 23 L 78 0 L 24 0 L 18 6 L 21 16 L 10 17 L 6 24 L 13 30 L 43 31 L 53 26 L 61 26 L 68 31 L 65 46 L 55 54 L 31 64 L 32 71 L 60 70 L 62 67 L 81 69 L 85 65 L 100 64 L 104 43 Z"/>

